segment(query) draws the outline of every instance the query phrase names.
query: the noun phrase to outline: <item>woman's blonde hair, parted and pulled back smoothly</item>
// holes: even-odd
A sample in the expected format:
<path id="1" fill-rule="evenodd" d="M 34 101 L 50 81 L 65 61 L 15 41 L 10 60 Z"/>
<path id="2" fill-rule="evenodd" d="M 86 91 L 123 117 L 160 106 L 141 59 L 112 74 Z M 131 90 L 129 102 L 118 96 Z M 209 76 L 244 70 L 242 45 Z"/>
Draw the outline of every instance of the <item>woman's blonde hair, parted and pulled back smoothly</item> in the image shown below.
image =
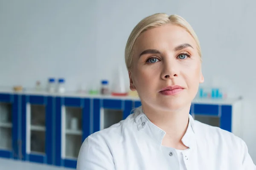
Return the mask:
<path id="1" fill-rule="evenodd" d="M 172 23 L 176 26 L 180 26 L 181 28 L 184 28 L 195 40 L 197 44 L 197 51 L 201 58 L 201 47 L 198 40 L 197 35 L 195 34 L 195 31 L 190 26 L 190 24 L 184 20 L 179 15 L 167 15 L 164 13 L 157 13 L 150 15 L 148 17 L 145 17 L 143 20 L 141 20 L 131 31 L 131 34 L 127 40 L 126 46 L 125 46 L 125 64 L 128 70 L 132 67 L 132 58 L 134 54 L 134 43 L 136 42 L 137 38 L 145 31 L 151 28 L 155 28 L 158 26 L 163 26 L 166 24 Z"/>

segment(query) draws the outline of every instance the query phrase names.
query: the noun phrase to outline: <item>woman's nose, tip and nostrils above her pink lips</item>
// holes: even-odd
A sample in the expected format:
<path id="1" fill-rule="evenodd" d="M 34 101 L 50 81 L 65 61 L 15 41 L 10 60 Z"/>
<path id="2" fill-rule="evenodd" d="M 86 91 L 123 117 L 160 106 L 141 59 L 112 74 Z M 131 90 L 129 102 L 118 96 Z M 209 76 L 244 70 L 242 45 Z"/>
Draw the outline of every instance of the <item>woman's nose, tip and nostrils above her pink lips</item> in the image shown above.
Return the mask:
<path id="1" fill-rule="evenodd" d="M 161 74 L 161 78 L 166 79 L 173 79 L 179 75 L 179 69 L 177 63 L 175 61 L 165 62 L 163 64 L 163 71 Z"/>

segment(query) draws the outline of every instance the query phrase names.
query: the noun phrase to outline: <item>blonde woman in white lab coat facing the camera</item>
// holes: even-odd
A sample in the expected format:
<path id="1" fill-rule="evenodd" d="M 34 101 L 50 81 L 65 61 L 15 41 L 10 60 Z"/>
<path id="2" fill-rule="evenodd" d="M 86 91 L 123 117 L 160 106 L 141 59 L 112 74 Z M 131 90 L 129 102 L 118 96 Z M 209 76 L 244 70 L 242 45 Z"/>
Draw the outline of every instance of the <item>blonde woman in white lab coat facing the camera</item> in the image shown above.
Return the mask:
<path id="1" fill-rule="evenodd" d="M 142 107 L 87 137 L 77 170 L 256 170 L 243 140 L 189 115 L 204 77 L 198 38 L 182 17 L 140 21 L 125 62 Z"/>

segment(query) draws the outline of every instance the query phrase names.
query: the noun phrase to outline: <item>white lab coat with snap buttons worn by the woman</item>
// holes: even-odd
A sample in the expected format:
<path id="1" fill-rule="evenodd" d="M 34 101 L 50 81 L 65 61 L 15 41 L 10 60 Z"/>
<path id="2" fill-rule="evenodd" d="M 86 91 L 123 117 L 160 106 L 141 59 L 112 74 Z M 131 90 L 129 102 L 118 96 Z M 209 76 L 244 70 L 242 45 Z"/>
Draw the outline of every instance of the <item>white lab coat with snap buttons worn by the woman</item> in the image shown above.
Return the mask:
<path id="1" fill-rule="evenodd" d="M 165 132 L 141 107 L 125 120 L 93 133 L 83 142 L 77 170 L 179 170 L 175 148 L 161 145 Z M 256 170 L 242 139 L 189 115 L 182 139 L 187 170 Z"/>

